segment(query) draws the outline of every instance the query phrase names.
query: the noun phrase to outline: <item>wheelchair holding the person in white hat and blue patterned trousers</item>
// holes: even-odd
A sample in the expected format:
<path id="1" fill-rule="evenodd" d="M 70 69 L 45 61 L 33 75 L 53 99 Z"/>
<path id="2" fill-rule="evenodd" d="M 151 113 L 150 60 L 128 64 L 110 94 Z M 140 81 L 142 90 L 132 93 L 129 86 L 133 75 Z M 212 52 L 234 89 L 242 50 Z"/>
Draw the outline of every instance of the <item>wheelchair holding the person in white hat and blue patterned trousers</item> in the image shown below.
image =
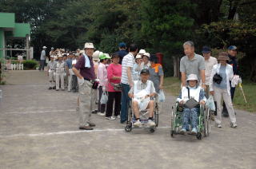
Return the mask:
<path id="1" fill-rule="evenodd" d="M 179 134 L 179 130 L 182 128 L 183 120 L 183 108 L 179 106 L 178 102 L 172 107 L 171 112 L 171 128 L 170 136 Z M 198 112 L 198 133 L 196 135 L 198 140 L 202 139 L 202 135 L 210 136 L 210 108 L 207 108 L 205 105 L 200 104 Z"/>

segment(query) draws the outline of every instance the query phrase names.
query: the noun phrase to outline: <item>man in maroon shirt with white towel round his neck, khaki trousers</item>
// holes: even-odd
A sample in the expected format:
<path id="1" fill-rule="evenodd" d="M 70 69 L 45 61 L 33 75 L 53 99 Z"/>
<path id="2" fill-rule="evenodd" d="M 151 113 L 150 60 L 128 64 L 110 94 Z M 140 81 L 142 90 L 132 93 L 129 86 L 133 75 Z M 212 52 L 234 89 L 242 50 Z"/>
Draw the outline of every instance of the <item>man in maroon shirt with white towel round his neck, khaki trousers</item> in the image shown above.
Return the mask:
<path id="1" fill-rule="evenodd" d="M 79 86 L 79 129 L 93 130 L 94 123 L 90 121 L 93 104 L 95 103 L 94 90 L 92 88 L 94 73 L 94 44 L 86 42 L 85 53 L 79 58 L 76 65 L 72 68 L 74 74 L 78 77 Z M 80 70 L 80 73 L 79 71 Z"/>

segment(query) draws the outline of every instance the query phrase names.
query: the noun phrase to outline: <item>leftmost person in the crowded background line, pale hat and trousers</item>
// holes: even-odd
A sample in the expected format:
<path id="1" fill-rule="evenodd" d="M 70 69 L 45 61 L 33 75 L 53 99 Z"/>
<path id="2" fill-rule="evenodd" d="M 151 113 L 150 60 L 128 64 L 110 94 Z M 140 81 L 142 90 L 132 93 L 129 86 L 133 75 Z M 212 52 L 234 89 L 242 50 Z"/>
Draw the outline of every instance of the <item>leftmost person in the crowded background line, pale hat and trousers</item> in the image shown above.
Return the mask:
<path id="1" fill-rule="evenodd" d="M 54 55 L 50 55 L 50 61 L 47 65 L 47 76 L 49 77 L 50 87 L 49 89 L 55 89 L 55 68 L 56 61 L 54 61 Z"/>

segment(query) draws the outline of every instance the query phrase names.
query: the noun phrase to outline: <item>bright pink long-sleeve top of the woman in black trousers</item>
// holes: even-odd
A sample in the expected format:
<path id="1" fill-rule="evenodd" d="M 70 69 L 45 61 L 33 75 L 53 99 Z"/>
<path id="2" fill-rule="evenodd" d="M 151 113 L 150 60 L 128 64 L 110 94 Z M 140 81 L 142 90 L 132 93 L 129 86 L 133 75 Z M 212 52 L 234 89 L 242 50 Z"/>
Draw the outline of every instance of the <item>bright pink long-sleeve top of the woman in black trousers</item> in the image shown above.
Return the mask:
<path id="1" fill-rule="evenodd" d="M 112 77 L 122 77 L 122 65 L 110 64 L 107 68 L 107 78 L 109 80 L 108 92 L 117 92 L 114 90 L 114 87 L 111 85 L 111 83 L 118 84 L 121 82 L 121 80 L 113 80 Z"/>

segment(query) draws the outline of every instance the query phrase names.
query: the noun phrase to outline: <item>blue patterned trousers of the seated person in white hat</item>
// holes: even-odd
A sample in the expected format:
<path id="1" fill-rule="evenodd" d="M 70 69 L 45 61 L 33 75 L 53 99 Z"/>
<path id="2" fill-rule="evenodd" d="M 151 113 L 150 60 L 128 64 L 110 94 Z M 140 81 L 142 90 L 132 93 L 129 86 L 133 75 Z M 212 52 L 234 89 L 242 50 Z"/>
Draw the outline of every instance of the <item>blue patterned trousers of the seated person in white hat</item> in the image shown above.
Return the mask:
<path id="1" fill-rule="evenodd" d="M 182 128 L 189 128 L 189 120 L 191 122 L 192 128 L 197 128 L 198 126 L 198 112 L 199 108 L 184 108 L 183 111 L 183 125 Z"/>

